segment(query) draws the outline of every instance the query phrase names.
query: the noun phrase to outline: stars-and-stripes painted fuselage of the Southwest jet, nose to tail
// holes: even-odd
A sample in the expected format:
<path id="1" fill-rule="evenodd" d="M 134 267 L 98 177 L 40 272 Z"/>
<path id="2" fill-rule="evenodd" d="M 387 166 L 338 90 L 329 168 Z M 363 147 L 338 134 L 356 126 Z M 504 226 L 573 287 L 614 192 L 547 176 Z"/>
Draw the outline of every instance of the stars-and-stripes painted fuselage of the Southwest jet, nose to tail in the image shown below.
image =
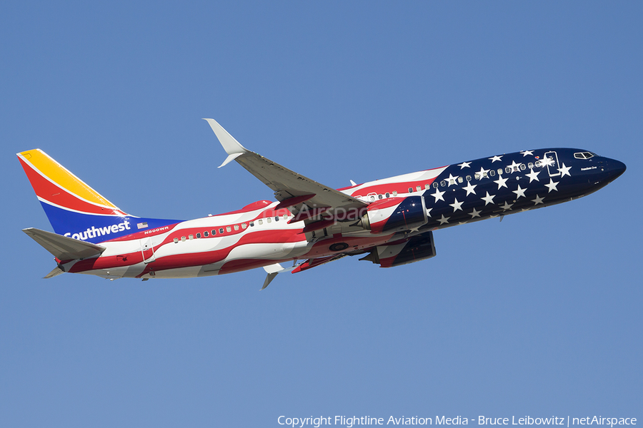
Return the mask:
<path id="1" fill-rule="evenodd" d="M 544 148 L 339 189 L 368 204 L 345 218 L 337 212 L 324 217 L 321 207 L 319 215 L 299 220 L 296 215 L 301 213 L 294 215 L 268 200 L 187 221 L 124 215 L 109 228 L 82 224 L 69 230 L 68 237 L 100 243 L 106 249 L 97 257 L 58 262 L 65 272 L 110 279 L 220 275 L 374 251 L 377 255 L 367 260 L 389 267 L 403 264 L 396 264 L 394 249 L 409 238 L 580 198 L 624 170 L 623 163 L 589 151 Z M 306 267 L 311 266 L 300 270 Z"/>

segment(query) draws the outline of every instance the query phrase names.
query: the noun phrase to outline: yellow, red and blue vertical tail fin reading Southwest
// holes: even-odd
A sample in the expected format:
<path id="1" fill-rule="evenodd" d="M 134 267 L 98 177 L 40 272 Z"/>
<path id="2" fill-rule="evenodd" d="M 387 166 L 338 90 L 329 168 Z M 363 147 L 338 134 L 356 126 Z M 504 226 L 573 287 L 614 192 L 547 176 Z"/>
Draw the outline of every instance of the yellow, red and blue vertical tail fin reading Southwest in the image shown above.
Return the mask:
<path id="1" fill-rule="evenodd" d="M 17 153 L 49 223 L 59 235 L 100 243 L 179 220 L 124 213 L 39 148 Z"/>

